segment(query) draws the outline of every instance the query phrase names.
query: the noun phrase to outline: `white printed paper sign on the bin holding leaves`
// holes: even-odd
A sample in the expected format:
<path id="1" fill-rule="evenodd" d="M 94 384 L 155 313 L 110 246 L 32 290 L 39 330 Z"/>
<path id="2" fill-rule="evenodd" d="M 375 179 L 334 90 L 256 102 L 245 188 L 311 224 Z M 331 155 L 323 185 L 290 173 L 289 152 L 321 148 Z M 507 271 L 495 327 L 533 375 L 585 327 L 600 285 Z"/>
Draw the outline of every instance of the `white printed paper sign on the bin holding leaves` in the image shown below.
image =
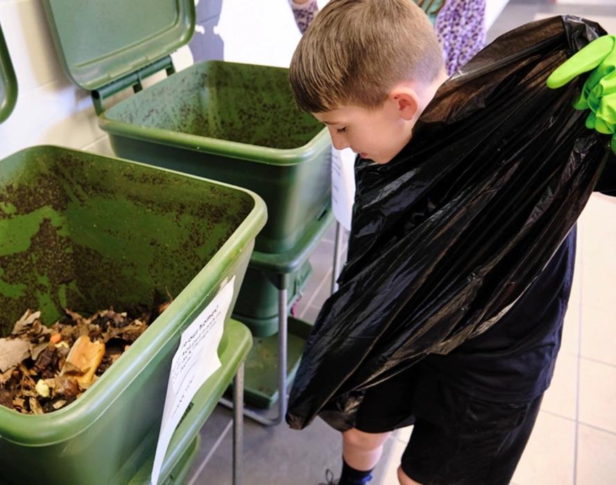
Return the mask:
<path id="1" fill-rule="evenodd" d="M 162 424 L 152 468 L 151 481 L 154 485 L 158 482 L 171 436 L 191 399 L 207 378 L 221 367 L 218 347 L 223 337 L 225 315 L 233 298 L 234 282 L 235 276 L 182 332 L 180 347 L 171 361 Z"/>

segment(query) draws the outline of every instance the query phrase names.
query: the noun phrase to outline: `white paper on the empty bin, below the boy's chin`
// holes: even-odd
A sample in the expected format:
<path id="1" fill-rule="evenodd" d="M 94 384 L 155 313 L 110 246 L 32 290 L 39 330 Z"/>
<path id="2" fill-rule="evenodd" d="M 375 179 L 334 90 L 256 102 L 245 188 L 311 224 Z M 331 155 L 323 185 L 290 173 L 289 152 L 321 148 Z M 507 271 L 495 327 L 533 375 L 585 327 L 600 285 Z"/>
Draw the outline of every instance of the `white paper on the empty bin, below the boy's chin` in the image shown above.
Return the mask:
<path id="1" fill-rule="evenodd" d="M 332 147 L 332 210 L 347 231 L 351 230 L 355 198 L 355 157 L 350 148 L 336 150 Z"/>

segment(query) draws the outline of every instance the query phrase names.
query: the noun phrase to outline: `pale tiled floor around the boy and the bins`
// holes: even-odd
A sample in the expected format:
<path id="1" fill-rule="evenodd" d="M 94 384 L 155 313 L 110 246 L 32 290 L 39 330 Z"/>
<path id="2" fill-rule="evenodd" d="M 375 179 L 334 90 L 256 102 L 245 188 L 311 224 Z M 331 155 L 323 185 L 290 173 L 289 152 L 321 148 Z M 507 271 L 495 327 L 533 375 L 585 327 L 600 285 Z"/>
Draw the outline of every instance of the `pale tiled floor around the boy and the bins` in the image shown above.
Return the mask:
<path id="1" fill-rule="evenodd" d="M 520 24 L 560 13 L 596 19 L 616 33 L 616 0 L 567 0 L 566 4 L 511 0 L 488 32 L 488 41 Z M 616 316 L 610 308 L 616 274 L 615 221 L 616 199 L 601 195 L 591 198 L 579 221 L 576 273 L 563 346 L 512 484 L 616 483 Z M 298 304 L 298 316 L 307 321 L 314 321 L 330 294 L 333 247 L 332 228 L 311 257 L 313 274 Z M 206 423 L 202 431 L 205 449 L 191 473 L 190 485 L 230 485 L 230 436 L 221 439 L 228 416 L 226 409 L 217 409 Z M 338 473 L 339 436 L 324 423 L 316 421 L 302 432 L 285 425 L 262 427 L 249 420 L 245 426 L 246 485 L 316 485 L 323 481 L 325 468 Z M 375 485 L 397 484 L 395 470 L 410 434 L 407 428 L 388 440 Z M 221 439 L 221 447 L 205 463 L 216 439 Z"/>

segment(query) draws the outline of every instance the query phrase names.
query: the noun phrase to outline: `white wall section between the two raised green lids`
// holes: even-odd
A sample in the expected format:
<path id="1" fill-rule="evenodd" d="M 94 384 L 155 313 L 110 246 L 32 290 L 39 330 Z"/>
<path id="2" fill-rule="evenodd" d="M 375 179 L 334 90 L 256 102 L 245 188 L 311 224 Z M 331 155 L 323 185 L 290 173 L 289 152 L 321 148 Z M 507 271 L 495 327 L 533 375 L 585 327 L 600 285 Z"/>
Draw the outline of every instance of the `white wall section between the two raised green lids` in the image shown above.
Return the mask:
<path id="1" fill-rule="evenodd" d="M 17 76 L 17 105 L 0 124 L 0 159 L 50 143 L 110 152 L 89 93 L 71 85 L 39 0 L 0 0 L 0 25 Z"/>

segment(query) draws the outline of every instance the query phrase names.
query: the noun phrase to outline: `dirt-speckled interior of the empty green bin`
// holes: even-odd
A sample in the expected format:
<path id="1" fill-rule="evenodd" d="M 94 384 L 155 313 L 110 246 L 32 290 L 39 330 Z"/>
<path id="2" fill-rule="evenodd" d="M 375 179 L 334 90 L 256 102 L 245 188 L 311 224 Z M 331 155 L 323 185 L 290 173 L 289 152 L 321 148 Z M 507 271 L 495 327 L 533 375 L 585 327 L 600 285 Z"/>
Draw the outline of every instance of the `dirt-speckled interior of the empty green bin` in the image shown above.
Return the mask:
<path id="1" fill-rule="evenodd" d="M 300 148 L 323 130 L 297 108 L 286 71 L 248 64 L 197 65 L 140 91 L 105 116 L 112 123 L 282 150 Z"/>

